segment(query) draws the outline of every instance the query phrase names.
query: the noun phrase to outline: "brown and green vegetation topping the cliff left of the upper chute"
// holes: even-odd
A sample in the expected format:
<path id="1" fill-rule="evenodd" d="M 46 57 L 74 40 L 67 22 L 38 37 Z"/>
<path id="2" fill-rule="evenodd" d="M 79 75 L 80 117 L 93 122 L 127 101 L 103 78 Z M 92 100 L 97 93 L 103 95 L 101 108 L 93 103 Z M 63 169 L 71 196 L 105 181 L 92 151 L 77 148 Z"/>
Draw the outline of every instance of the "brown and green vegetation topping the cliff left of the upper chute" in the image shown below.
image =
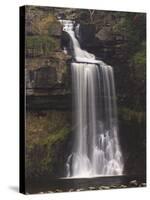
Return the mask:
<path id="1" fill-rule="evenodd" d="M 50 27 L 53 34 L 50 34 Z M 60 50 L 60 40 L 55 37 L 61 25 L 53 11 L 42 7 L 26 7 L 26 57 L 49 56 Z"/>

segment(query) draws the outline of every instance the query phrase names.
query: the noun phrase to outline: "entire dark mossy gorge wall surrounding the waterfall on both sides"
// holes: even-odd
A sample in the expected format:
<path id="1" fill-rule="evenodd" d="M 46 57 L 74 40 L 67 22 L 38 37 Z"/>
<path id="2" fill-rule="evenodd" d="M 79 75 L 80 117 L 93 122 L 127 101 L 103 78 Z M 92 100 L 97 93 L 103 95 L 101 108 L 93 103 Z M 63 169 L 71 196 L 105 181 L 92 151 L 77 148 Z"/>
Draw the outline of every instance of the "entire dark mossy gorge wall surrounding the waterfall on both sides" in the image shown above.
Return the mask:
<path id="1" fill-rule="evenodd" d="M 71 56 L 62 50 L 64 46 L 69 46 L 69 39 L 56 17 L 74 19 L 80 23 L 82 48 L 113 66 L 125 173 L 142 174 L 146 148 L 145 14 L 95 11 L 91 16 L 89 10 L 31 6 L 26 8 L 25 63 L 29 119 L 27 135 L 32 137 L 27 140 L 28 176 L 61 174 L 60 169 L 56 168 L 54 173 L 50 169 L 55 169 L 57 162 L 64 168 L 64 151 L 68 148 L 66 144 L 72 131 Z M 53 110 L 57 110 L 54 120 L 50 117 Z M 42 127 L 42 120 L 47 124 L 46 128 Z M 48 128 L 51 120 L 53 124 L 56 121 L 53 130 Z M 59 120 L 63 124 L 57 130 Z M 36 142 L 34 137 L 38 138 Z M 46 155 L 49 157 L 44 157 Z M 61 158 L 60 162 L 58 158 Z"/>

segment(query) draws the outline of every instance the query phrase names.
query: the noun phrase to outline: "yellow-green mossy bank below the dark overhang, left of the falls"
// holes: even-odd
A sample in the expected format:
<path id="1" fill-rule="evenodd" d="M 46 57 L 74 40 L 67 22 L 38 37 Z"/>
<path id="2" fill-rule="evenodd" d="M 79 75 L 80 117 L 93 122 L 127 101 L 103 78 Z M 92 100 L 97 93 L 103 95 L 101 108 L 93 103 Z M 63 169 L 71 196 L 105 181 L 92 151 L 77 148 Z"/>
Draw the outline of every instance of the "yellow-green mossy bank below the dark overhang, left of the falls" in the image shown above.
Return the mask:
<path id="1" fill-rule="evenodd" d="M 63 167 L 64 144 L 70 133 L 68 116 L 69 113 L 57 111 L 27 113 L 27 176 L 52 174 L 56 162 L 60 169 Z"/>

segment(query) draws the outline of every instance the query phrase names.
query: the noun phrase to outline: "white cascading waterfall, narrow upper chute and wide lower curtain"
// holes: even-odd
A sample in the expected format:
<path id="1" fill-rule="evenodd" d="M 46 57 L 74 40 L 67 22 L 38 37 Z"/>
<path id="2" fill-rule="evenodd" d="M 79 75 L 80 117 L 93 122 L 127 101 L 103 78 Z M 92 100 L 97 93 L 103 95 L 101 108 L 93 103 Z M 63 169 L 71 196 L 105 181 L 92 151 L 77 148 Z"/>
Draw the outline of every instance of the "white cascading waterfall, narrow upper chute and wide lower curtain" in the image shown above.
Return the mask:
<path id="1" fill-rule="evenodd" d="M 73 21 L 60 21 L 70 35 L 75 59 L 71 64 L 75 137 L 67 177 L 121 175 L 113 68 L 81 49 Z"/>

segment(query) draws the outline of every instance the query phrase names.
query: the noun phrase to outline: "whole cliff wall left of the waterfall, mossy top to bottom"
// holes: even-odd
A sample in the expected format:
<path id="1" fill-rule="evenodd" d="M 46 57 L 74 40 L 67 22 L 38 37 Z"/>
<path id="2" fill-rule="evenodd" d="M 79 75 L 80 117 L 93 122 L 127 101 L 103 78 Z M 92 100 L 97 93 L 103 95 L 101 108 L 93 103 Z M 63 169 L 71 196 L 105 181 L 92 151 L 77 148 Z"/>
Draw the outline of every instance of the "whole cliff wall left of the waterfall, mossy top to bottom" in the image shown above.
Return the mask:
<path id="1" fill-rule="evenodd" d="M 26 180 L 61 177 L 71 137 L 69 59 L 53 9 L 26 6 Z"/>

